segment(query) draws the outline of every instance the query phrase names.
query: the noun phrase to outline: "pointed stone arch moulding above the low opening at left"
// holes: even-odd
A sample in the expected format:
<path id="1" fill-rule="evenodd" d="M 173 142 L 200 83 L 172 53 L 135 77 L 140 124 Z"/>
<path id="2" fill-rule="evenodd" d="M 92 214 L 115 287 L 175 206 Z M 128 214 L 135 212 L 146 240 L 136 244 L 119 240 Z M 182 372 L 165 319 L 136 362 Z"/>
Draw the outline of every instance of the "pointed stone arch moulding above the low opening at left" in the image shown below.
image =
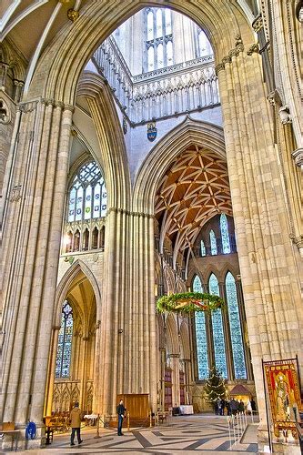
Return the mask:
<path id="1" fill-rule="evenodd" d="M 56 288 L 56 300 L 54 306 L 54 315 L 53 315 L 53 325 L 54 327 L 60 326 L 61 320 L 61 312 L 62 312 L 62 303 L 66 298 L 66 294 L 68 292 L 68 288 L 70 287 L 71 283 L 73 282 L 74 278 L 76 278 L 79 272 L 83 272 L 88 281 L 90 282 L 92 288 L 94 289 L 94 293 L 96 296 L 96 319 L 98 320 L 98 313 L 100 311 L 101 306 L 101 293 L 99 286 L 96 282 L 96 278 L 91 270 L 86 266 L 86 264 L 77 259 L 76 262 L 68 268 L 66 274 L 61 278 L 60 283 Z"/>

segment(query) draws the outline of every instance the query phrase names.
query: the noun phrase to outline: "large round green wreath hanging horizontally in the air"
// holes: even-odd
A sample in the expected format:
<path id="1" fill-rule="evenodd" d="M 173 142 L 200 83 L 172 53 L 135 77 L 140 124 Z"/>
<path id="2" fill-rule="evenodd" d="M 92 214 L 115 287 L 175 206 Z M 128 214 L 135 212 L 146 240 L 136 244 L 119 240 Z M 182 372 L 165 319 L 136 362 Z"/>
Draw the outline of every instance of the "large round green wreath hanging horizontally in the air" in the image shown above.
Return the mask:
<path id="1" fill-rule="evenodd" d="M 194 311 L 215 311 L 223 307 L 224 300 L 222 298 L 201 292 L 171 294 L 157 300 L 157 311 L 159 313 L 184 313 L 188 315 Z"/>

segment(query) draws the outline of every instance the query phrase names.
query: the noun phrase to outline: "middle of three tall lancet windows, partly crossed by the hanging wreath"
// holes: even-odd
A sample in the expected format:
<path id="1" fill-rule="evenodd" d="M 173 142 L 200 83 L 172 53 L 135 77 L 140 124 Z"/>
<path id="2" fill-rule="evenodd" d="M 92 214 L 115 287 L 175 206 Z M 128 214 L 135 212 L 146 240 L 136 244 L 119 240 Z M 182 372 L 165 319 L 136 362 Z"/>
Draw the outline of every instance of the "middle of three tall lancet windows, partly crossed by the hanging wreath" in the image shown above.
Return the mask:
<path id="1" fill-rule="evenodd" d="M 216 296 L 220 295 L 217 277 L 213 273 L 209 277 L 208 288 L 210 294 L 214 294 Z M 225 352 L 225 339 L 221 309 L 217 309 L 216 311 L 212 312 L 211 321 L 213 327 L 216 367 L 221 372 L 223 378 L 227 379 L 227 357 Z"/>

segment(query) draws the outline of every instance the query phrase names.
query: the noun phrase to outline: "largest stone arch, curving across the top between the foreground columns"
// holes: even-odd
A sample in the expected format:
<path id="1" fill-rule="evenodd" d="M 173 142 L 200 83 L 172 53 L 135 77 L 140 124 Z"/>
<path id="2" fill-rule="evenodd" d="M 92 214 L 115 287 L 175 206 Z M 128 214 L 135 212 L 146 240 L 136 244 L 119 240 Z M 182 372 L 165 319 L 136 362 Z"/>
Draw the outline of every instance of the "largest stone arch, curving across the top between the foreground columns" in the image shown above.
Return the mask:
<path id="1" fill-rule="evenodd" d="M 85 5 L 75 24 L 66 24 L 40 57 L 27 97 L 45 96 L 66 104 L 74 104 L 76 84 L 87 57 L 131 15 L 145 6 L 169 6 L 203 25 L 215 49 L 217 58 L 226 56 L 234 46 L 235 34 L 242 35 L 246 44 L 254 41 L 247 17 L 238 5 L 214 0 L 211 3 L 185 3 L 183 0 L 122 2 L 115 0 Z M 103 24 L 100 27 L 100 24 Z M 87 33 L 89 30 L 89 33 Z M 43 73 L 43 76 L 42 76 Z M 47 75 L 47 77 L 45 77 Z M 41 81 L 44 81 L 41 84 Z"/>

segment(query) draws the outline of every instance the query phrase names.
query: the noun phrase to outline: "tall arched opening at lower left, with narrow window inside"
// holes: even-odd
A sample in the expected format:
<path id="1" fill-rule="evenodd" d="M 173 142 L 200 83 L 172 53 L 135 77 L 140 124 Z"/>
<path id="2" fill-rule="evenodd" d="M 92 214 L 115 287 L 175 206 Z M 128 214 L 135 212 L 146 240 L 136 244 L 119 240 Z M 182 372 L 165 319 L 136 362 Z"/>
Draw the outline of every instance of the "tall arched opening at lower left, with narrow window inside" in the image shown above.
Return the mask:
<path id="1" fill-rule="evenodd" d="M 80 269 L 58 298 L 53 329 L 45 415 L 67 415 L 78 401 L 86 414 L 95 405 L 96 295 Z"/>

